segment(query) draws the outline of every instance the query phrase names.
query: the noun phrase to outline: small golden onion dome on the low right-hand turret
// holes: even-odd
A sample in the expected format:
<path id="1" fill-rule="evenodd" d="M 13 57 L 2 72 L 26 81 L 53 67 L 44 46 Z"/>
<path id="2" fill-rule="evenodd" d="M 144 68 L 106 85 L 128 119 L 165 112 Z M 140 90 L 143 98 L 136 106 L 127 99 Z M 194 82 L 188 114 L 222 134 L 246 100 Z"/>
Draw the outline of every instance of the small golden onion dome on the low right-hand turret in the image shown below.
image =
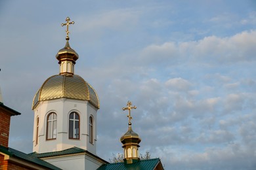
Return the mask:
<path id="1" fill-rule="evenodd" d="M 137 133 L 131 129 L 131 122 L 129 122 L 129 128 L 128 131 L 120 138 L 121 143 L 127 144 L 127 143 L 137 143 L 139 144 L 141 139 Z"/>

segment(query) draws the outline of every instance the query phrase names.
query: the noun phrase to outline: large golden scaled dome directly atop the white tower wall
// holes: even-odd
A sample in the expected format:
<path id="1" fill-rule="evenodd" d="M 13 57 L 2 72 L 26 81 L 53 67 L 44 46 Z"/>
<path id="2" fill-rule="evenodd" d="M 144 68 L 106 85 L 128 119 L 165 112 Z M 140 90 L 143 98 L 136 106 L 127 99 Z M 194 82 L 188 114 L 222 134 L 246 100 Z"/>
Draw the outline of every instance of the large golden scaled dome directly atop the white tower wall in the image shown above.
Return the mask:
<path id="1" fill-rule="evenodd" d="M 94 88 L 79 75 L 54 75 L 49 77 L 33 97 L 32 109 L 40 101 L 59 98 L 89 101 L 100 109 L 98 95 Z"/>

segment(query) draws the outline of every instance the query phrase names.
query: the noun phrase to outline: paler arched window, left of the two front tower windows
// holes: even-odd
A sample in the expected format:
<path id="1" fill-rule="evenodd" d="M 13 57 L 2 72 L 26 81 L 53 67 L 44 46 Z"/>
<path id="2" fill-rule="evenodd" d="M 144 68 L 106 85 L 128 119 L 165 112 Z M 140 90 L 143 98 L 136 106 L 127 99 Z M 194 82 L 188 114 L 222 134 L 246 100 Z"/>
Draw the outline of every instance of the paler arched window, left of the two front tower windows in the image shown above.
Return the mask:
<path id="1" fill-rule="evenodd" d="M 47 139 L 56 139 L 57 136 L 57 114 L 51 112 L 47 116 Z"/>

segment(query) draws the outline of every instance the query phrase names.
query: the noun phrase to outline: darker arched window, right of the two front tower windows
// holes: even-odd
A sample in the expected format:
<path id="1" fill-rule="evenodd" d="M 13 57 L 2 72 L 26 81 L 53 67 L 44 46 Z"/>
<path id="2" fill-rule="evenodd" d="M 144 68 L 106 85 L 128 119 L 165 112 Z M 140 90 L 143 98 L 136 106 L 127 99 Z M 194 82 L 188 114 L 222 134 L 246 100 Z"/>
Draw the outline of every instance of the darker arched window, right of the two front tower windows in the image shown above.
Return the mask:
<path id="1" fill-rule="evenodd" d="M 79 139 L 79 114 L 77 112 L 70 113 L 69 138 Z"/>

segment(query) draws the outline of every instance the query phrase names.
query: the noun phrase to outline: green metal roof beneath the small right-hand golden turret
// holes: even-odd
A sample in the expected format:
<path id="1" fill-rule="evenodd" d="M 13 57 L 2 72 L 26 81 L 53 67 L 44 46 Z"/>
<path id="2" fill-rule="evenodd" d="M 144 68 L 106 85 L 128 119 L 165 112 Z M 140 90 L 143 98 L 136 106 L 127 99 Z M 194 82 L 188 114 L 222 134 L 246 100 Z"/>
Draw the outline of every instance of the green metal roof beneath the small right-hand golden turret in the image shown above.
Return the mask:
<path id="1" fill-rule="evenodd" d="M 153 170 L 156 168 L 158 163 L 161 163 L 159 158 L 150 160 L 140 160 L 136 163 L 126 164 L 123 162 L 119 163 L 108 163 L 101 165 L 97 170 Z"/>

